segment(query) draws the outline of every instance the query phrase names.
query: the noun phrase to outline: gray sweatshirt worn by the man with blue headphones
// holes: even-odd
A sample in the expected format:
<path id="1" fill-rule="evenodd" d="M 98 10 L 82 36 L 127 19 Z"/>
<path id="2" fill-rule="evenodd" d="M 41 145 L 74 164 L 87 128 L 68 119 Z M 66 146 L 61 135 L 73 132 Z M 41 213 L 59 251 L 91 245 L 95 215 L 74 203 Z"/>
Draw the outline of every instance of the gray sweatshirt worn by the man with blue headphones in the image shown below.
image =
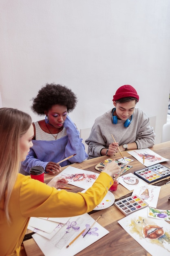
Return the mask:
<path id="1" fill-rule="evenodd" d="M 119 143 L 136 142 L 138 149 L 150 148 L 154 145 L 155 132 L 150 127 L 149 117 L 139 108 L 135 108 L 133 112 L 132 122 L 129 127 L 124 127 L 123 120 L 117 120 L 117 124 L 111 121 L 112 110 L 97 117 L 91 129 L 90 136 L 86 139 L 88 145 L 88 158 L 100 157 L 102 148 L 108 148 L 113 142 L 111 134 Z"/>

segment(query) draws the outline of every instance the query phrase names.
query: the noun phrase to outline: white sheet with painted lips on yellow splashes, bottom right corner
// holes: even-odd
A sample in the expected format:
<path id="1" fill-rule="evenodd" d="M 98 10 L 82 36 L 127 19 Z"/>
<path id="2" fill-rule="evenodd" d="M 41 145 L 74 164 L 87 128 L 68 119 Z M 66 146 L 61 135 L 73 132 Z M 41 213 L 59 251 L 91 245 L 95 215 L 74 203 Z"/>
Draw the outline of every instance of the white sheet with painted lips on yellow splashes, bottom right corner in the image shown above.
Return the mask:
<path id="1" fill-rule="evenodd" d="M 148 217 L 148 207 L 126 216 L 118 223 L 152 256 L 170 255 L 170 224 Z M 159 232 L 156 231 L 158 229 Z"/>

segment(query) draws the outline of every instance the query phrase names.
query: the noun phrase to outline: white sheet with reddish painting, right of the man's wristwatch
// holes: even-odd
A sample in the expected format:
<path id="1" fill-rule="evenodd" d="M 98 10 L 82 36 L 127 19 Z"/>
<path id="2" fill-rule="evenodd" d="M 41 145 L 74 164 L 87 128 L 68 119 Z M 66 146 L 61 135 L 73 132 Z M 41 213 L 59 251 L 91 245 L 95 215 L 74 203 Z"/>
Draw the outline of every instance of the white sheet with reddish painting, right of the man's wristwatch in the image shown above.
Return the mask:
<path id="1" fill-rule="evenodd" d="M 161 157 L 149 148 L 131 150 L 128 151 L 128 153 L 135 157 L 141 164 L 144 164 L 144 166 L 151 166 L 153 164 L 169 161 L 169 159 Z M 145 160 L 143 159 L 143 156 L 145 157 Z"/>

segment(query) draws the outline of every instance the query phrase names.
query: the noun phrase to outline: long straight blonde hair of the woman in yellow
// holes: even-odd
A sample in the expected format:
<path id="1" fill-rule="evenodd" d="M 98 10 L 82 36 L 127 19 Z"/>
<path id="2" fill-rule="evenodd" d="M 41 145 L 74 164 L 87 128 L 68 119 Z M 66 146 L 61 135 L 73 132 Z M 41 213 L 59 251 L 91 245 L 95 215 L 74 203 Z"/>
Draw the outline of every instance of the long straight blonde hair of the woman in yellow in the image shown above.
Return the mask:
<path id="1" fill-rule="evenodd" d="M 31 117 L 17 109 L 0 108 L 0 201 L 10 221 L 8 204 L 20 167 L 20 138 L 31 126 Z"/>

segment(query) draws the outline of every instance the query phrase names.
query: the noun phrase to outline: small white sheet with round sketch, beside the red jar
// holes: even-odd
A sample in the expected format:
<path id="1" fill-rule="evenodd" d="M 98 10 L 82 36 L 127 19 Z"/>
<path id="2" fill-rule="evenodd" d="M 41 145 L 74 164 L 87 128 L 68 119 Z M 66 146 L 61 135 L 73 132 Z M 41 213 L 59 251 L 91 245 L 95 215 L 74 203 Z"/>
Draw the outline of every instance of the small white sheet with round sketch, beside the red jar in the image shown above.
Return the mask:
<path id="1" fill-rule="evenodd" d="M 148 183 L 144 180 L 141 180 L 133 173 L 128 173 L 119 177 L 119 183 L 123 185 L 129 191 L 145 186 Z"/>

